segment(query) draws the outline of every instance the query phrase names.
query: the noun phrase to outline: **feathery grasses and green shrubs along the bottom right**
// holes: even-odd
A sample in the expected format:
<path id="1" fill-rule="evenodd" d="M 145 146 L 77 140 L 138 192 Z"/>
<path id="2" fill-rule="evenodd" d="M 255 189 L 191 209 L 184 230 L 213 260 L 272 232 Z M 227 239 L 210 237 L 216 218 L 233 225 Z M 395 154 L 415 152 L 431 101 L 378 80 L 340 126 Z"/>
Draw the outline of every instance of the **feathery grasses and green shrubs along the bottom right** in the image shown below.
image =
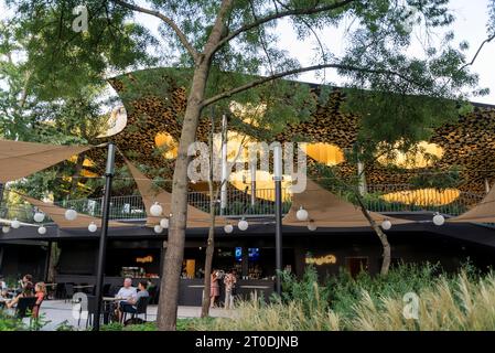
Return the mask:
<path id="1" fill-rule="evenodd" d="M 284 274 L 284 300 L 238 302 L 232 318 L 195 321 L 193 330 L 494 330 L 495 277 L 466 264 L 459 274 L 438 265 L 400 265 L 389 275 L 347 272 L 315 285 L 315 272 L 301 280 Z M 315 290 L 318 289 L 318 290 Z M 402 314 L 403 296 L 419 297 L 418 320 Z"/>

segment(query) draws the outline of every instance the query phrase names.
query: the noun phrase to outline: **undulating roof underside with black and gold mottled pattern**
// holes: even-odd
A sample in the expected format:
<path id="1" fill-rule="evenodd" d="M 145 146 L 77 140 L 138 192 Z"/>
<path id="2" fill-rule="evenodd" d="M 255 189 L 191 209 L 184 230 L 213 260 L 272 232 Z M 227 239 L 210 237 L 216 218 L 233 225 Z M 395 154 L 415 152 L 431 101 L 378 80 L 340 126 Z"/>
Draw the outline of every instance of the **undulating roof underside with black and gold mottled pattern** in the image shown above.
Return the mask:
<path id="1" fill-rule="evenodd" d="M 133 161 L 139 160 L 140 163 L 155 168 L 173 164 L 173 159 L 165 159 L 152 152 L 157 148 L 155 138 L 159 133 L 166 133 L 175 142 L 180 139 L 187 95 L 183 83 L 175 77 L 186 81 L 191 77 L 191 71 L 181 69 L 180 73 L 174 74 L 176 71 L 158 67 L 110 79 L 110 84 L 126 107 L 128 121 L 128 128 L 112 136 L 111 140 L 126 153 L 133 151 Z M 316 86 L 313 87 L 318 89 Z M 288 124 L 277 139 L 331 143 L 341 150 L 351 148 L 356 139 L 362 118 L 342 109 L 345 95 L 345 89 L 335 87 L 329 95 L 327 101 L 319 103 L 316 110 L 309 119 Z M 397 168 L 390 172 L 387 165 L 379 162 L 369 163 L 365 165 L 367 183 L 395 184 L 398 188 L 397 191 L 409 190 L 410 179 L 418 172 L 437 173 L 439 170 L 446 172 L 452 165 L 458 165 L 461 180 L 458 189 L 463 192 L 484 192 L 484 179 L 492 183 L 495 180 L 493 168 L 495 139 L 491 133 L 495 128 L 495 107 L 476 104 L 474 106 L 474 111 L 460 117 L 459 121 L 434 129 L 428 142 L 443 151 L 434 165 L 413 169 Z M 229 122 L 229 129 L 254 138 L 257 138 L 257 133 L 260 132 L 256 126 L 240 122 Z M 202 119 L 198 124 L 197 139 L 206 140 L 208 130 L 208 119 Z M 316 162 L 313 158 L 309 158 L 310 167 Z M 354 163 L 342 161 L 337 167 L 344 178 L 356 174 Z M 171 179 L 171 171 L 170 168 L 163 178 Z"/>

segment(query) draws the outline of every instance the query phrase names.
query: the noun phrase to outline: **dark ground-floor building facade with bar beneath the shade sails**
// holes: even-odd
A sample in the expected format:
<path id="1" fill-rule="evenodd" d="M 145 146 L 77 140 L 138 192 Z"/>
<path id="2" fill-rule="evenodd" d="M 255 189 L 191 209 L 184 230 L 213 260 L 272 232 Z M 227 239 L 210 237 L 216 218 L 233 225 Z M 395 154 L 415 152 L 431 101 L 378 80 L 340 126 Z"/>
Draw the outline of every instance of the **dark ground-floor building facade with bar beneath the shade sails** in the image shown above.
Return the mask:
<path id="1" fill-rule="evenodd" d="M 275 227 L 272 224 L 254 224 L 249 229 L 249 233 L 218 232 L 213 267 L 224 271 L 235 268 L 240 295 L 261 291 L 268 297 L 273 291 L 276 274 Z M 186 234 L 180 304 L 201 303 L 206 237 L 206 229 Z M 492 227 L 474 224 L 438 227 L 431 223 L 413 223 L 397 226 L 388 232 L 388 237 L 392 266 L 430 263 L 439 264 L 442 270 L 455 271 L 467 260 L 481 270 L 495 265 L 495 229 Z M 132 277 L 157 284 L 161 275 L 163 240 L 166 235 L 155 235 L 142 226 L 118 234 L 110 232 L 105 282 L 117 288 L 125 277 Z M 20 278 L 30 272 L 36 280 L 44 280 L 51 242 L 56 242 L 61 249 L 56 282 L 95 284 L 98 237 L 56 227 L 49 228 L 44 236 L 2 235 L 0 272 L 8 278 Z M 362 270 L 376 275 L 381 266 L 381 245 L 368 228 L 310 232 L 305 227 L 284 227 L 283 268 L 301 277 L 309 265 L 316 268 L 322 281 L 343 269 L 353 276 Z"/>

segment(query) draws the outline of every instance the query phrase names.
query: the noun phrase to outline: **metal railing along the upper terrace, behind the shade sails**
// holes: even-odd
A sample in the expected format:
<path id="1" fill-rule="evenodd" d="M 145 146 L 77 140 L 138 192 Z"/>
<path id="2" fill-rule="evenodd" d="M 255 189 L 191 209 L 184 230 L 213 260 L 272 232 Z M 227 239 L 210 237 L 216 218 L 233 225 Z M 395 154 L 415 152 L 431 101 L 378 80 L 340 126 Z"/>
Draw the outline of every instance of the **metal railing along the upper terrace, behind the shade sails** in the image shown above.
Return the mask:
<path id="1" fill-rule="evenodd" d="M 363 196 L 364 203 L 373 212 L 440 212 L 456 216 L 482 201 L 484 194 L 459 192 L 456 190 L 413 190 L 408 184 L 368 185 L 368 192 Z M 353 195 L 334 191 L 344 200 L 353 201 Z M 227 190 L 227 204 L 220 210 L 219 200 L 215 202 L 215 213 L 226 216 L 270 216 L 275 214 L 275 190 L 257 189 L 256 197 L 250 193 L 237 189 Z M 283 190 L 282 210 L 287 213 L 291 206 L 291 194 Z M 205 192 L 190 192 L 189 203 L 204 212 L 209 212 L 209 195 Z M 219 199 L 219 197 L 218 197 Z M 140 195 L 111 197 L 111 220 L 142 220 L 146 218 L 146 206 Z M 101 197 L 80 199 L 55 202 L 65 208 L 74 208 L 79 213 L 95 217 L 101 216 Z M 28 204 L 6 205 L 0 207 L 0 218 L 21 222 L 33 222 L 35 208 Z"/>

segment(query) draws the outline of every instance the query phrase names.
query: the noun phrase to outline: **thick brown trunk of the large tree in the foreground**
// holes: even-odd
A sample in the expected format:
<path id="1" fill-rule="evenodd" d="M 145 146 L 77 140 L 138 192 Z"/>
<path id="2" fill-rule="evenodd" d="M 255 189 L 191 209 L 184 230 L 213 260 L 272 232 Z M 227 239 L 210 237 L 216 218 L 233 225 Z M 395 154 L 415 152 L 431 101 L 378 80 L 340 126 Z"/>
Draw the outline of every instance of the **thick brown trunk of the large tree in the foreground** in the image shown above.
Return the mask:
<path id="1" fill-rule="evenodd" d="M 162 268 L 160 286 L 160 301 L 158 307 L 158 329 L 160 331 L 175 330 L 179 286 L 181 279 L 182 260 L 184 257 L 184 237 L 187 218 L 187 148 L 196 137 L 197 122 L 202 111 L 209 63 L 203 61 L 196 66 L 187 107 L 182 125 L 179 154 L 175 161 L 172 185 L 172 203 L 168 247 Z"/>

